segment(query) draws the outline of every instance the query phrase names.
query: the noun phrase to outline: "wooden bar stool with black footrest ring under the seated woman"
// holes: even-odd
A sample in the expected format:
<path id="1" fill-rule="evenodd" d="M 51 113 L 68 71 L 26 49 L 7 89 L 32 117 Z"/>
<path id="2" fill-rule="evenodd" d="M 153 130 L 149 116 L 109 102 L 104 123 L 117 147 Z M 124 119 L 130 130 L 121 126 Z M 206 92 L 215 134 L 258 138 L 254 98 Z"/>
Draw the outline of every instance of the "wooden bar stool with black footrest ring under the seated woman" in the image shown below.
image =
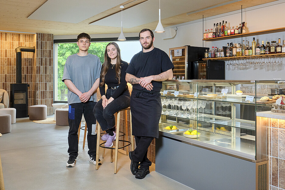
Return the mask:
<path id="1" fill-rule="evenodd" d="M 120 118 L 121 118 L 121 113 L 125 112 L 125 127 L 126 127 L 126 133 L 125 133 L 125 138 L 128 138 L 128 124 L 127 124 L 127 112 L 129 112 L 130 115 L 130 132 L 131 132 L 131 142 L 127 141 L 127 140 L 119 140 L 119 136 L 123 136 L 123 135 L 119 135 L 120 133 Z M 131 115 L 131 111 L 130 108 L 126 108 L 126 109 L 121 109 L 120 111 L 117 112 L 117 118 L 116 118 L 117 122 L 116 122 L 116 142 L 115 142 L 115 148 L 113 147 L 105 147 L 103 143 L 100 144 L 100 135 L 99 132 L 101 131 L 101 127 L 99 125 L 99 123 L 97 123 L 97 149 L 96 149 L 96 170 L 98 170 L 98 161 L 99 161 L 99 149 L 100 147 L 104 148 L 104 149 L 111 149 L 111 162 L 113 162 L 113 149 L 115 149 L 115 167 L 114 167 L 114 174 L 117 173 L 117 163 L 118 163 L 118 149 L 127 147 L 129 145 L 131 145 L 132 150 L 135 149 L 135 145 L 134 145 L 134 136 L 132 136 L 132 115 Z M 98 132 L 99 131 L 99 132 Z M 119 141 L 121 142 L 125 142 L 124 146 L 119 147 Z M 126 151 L 128 152 L 128 151 Z M 104 156 L 103 156 L 104 157 Z"/>

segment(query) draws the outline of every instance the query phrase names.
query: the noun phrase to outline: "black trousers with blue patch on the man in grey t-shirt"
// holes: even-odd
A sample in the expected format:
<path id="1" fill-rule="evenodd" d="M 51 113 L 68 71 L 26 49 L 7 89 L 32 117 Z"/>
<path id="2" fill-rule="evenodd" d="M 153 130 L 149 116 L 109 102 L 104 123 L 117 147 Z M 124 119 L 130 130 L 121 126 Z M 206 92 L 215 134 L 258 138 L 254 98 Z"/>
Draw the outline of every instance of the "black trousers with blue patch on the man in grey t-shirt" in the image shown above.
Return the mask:
<path id="1" fill-rule="evenodd" d="M 88 154 L 89 156 L 96 155 L 96 142 L 97 134 L 92 135 L 92 124 L 96 124 L 96 119 L 92 113 L 96 102 L 88 101 L 81 103 L 69 104 L 68 109 L 68 153 L 69 156 L 78 156 L 78 128 L 84 115 L 87 124 L 87 143 L 88 143 Z"/>

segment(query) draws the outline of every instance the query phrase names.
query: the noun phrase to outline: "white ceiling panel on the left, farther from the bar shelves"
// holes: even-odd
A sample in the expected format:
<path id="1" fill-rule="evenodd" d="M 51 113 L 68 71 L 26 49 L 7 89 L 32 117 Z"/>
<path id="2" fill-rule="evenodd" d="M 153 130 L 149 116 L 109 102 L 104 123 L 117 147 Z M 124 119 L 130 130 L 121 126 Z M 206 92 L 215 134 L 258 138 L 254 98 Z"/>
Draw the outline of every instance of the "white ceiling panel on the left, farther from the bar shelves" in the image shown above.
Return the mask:
<path id="1" fill-rule="evenodd" d="M 79 23 L 126 0 L 48 0 L 28 19 Z"/>

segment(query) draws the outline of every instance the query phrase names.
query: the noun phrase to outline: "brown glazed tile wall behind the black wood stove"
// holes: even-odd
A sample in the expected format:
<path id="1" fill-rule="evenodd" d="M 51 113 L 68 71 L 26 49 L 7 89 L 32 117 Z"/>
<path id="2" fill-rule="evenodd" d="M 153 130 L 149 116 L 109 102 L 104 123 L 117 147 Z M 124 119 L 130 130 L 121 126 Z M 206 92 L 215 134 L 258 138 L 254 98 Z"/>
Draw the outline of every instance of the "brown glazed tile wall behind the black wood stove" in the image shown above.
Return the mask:
<path id="1" fill-rule="evenodd" d="M 29 106 L 47 105 L 52 114 L 53 101 L 53 35 L 0 32 L 0 89 L 8 91 L 16 83 L 16 52 L 19 46 L 33 47 L 36 52 L 22 52 L 22 83 L 28 88 Z"/>

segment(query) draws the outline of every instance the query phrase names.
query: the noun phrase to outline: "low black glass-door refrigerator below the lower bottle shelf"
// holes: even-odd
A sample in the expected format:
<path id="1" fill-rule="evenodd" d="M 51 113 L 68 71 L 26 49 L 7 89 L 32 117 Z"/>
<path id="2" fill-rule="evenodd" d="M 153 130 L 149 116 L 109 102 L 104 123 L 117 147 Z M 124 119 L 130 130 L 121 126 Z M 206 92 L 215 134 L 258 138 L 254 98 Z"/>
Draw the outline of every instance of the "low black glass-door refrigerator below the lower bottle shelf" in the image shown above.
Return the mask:
<path id="1" fill-rule="evenodd" d="M 225 79 L 225 62 L 216 60 L 194 61 L 190 63 L 192 70 L 189 70 L 189 79 Z"/>

